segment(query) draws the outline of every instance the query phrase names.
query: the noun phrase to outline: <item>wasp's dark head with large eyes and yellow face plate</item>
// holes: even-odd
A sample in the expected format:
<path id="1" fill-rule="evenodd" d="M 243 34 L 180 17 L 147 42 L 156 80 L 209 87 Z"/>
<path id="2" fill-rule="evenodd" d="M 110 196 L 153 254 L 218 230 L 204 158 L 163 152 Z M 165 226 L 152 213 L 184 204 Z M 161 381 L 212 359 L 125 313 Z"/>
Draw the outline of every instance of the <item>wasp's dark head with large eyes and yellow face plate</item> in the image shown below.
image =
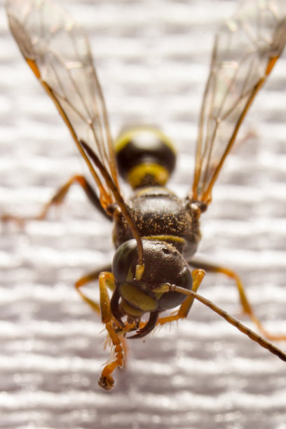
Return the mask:
<path id="1" fill-rule="evenodd" d="M 161 285 L 177 285 L 189 290 L 192 287 L 189 268 L 175 247 L 156 240 L 142 240 L 142 243 L 145 268 L 140 280 L 135 280 L 138 257 L 135 240 L 119 246 L 112 262 L 117 304 L 121 312 L 133 316 L 175 308 L 186 299 L 178 292 L 157 292 L 156 288 Z"/>

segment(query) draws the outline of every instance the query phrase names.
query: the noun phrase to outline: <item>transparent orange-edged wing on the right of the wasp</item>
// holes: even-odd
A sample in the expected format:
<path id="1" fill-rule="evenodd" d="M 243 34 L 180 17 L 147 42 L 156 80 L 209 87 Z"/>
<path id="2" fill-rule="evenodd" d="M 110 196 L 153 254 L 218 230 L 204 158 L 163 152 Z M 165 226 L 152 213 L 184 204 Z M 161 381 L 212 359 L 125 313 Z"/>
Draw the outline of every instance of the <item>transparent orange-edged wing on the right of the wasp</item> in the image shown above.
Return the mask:
<path id="1" fill-rule="evenodd" d="M 247 1 L 214 39 L 200 111 L 193 200 L 209 204 L 212 186 L 255 95 L 286 41 L 286 1 Z"/>

